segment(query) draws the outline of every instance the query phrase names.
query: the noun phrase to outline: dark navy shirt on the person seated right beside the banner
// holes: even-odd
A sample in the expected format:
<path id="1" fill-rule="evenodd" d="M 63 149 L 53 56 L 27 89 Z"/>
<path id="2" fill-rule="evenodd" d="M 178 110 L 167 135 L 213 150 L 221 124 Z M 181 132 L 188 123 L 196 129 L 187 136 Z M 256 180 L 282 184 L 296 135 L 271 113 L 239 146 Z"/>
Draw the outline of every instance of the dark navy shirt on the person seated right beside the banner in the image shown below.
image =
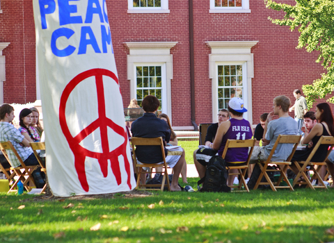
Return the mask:
<path id="1" fill-rule="evenodd" d="M 145 112 L 132 122 L 131 132 L 133 137 L 162 137 L 166 142 L 170 140 L 170 129 L 166 121 L 157 118 L 154 113 Z M 167 156 L 167 150 L 165 149 Z M 137 146 L 136 157 L 140 162 L 153 164 L 162 161 L 160 146 Z"/>

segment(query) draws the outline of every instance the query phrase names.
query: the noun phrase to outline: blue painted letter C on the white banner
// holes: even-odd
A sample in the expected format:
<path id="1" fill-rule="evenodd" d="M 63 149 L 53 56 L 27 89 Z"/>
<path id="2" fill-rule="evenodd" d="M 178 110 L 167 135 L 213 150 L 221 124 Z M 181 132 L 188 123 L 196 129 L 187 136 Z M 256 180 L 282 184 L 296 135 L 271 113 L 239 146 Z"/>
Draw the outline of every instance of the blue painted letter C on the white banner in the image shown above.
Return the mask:
<path id="1" fill-rule="evenodd" d="M 58 28 L 54 33 L 52 33 L 51 36 L 51 50 L 54 55 L 63 57 L 63 56 L 70 56 L 74 51 L 75 47 L 73 46 L 68 46 L 63 50 L 59 50 L 56 46 L 56 41 L 58 37 L 64 36 L 68 39 L 74 34 L 74 31 L 71 30 L 70 28 Z"/>

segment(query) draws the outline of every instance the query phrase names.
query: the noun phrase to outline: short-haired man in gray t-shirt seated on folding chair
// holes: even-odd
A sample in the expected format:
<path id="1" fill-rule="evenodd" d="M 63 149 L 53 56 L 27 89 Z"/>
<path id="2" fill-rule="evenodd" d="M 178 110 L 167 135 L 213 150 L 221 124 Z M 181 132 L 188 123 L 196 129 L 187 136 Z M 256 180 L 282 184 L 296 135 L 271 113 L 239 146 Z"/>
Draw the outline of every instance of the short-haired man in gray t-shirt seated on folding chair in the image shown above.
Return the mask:
<path id="1" fill-rule="evenodd" d="M 250 164 L 267 160 L 273 144 L 275 144 L 278 135 L 296 135 L 298 132 L 297 122 L 289 117 L 288 109 L 291 105 L 290 99 L 281 95 L 273 99 L 273 111 L 269 113 L 266 124 L 264 125 L 264 137 L 262 144 L 265 146 L 255 146 Z M 273 116 L 278 115 L 278 119 L 273 120 Z M 273 153 L 273 161 L 284 161 L 292 152 L 292 144 L 279 144 Z"/>

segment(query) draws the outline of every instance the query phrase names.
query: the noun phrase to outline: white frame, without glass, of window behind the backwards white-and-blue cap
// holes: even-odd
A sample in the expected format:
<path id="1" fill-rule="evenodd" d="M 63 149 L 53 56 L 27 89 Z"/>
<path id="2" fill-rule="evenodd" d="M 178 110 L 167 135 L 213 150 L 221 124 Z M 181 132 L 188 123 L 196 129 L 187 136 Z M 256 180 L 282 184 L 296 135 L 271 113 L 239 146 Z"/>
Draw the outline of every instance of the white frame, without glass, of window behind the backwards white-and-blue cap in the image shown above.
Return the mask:
<path id="1" fill-rule="evenodd" d="M 241 64 L 243 99 L 248 112 L 244 118 L 253 124 L 252 112 L 252 78 L 254 77 L 253 53 L 250 49 L 258 41 L 206 42 L 211 48 L 209 54 L 209 78 L 212 79 L 212 121 L 218 122 L 218 65 Z"/>

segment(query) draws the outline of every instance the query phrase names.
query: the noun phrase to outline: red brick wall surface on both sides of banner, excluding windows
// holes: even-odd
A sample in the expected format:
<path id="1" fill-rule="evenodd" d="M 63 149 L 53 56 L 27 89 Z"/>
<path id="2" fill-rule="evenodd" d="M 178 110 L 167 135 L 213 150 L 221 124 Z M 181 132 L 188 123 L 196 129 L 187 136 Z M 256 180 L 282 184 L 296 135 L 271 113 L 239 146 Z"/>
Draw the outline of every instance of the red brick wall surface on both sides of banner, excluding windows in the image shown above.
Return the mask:
<path id="1" fill-rule="evenodd" d="M 169 0 L 169 14 L 128 14 L 127 1 L 106 0 L 111 37 L 124 106 L 128 106 L 127 54 L 124 42 L 178 42 L 173 54 L 172 115 L 173 126 L 191 126 L 189 6 L 187 0 Z M 294 1 L 287 1 L 293 3 Z M 32 1 L 1 0 L 0 42 L 10 42 L 6 56 L 4 101 L 35 101 L 35 31 Z M 252 80 L 253 121 L 262 112 L 271 111 L 273 97 L 287 95 L 320 77 L 317 53 L 296 49 L 299 33 L 271 24 L 268 16 L 282 13 L 267 10 L 262 0 L 250 0 L 251 13 L 209 13 L 209 0 L 193 0 L 194 57 L 196 81 L 196 123 L 212 121 L 212 80 L 209 79 L 209 53 L 205 42 L 259 41 L 254 54 Z M 247 107 L 247 104 L 246 104 Z M 313 108 L 314 110 L 314 108 Z M 291 113 L 290 115 L 293 115 Z"/>

